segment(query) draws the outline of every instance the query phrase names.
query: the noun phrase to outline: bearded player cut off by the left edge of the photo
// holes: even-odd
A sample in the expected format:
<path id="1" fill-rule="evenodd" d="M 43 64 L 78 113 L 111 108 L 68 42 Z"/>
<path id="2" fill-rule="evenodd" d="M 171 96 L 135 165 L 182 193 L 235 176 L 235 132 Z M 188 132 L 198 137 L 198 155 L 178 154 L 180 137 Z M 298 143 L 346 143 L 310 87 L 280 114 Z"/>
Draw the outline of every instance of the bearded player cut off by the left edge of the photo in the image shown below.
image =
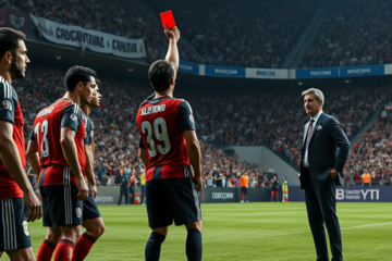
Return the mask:
<path id="1" fill-rule="evenodd" d="M 24 121 L 11 85 L 25 77 L 29 63 L 25 38 L 22 32 L 0 28 L 0 256 L 5 251 L 11 260 L 34 260 L 27 222 L 42 215 L 25 173 Z"/>

